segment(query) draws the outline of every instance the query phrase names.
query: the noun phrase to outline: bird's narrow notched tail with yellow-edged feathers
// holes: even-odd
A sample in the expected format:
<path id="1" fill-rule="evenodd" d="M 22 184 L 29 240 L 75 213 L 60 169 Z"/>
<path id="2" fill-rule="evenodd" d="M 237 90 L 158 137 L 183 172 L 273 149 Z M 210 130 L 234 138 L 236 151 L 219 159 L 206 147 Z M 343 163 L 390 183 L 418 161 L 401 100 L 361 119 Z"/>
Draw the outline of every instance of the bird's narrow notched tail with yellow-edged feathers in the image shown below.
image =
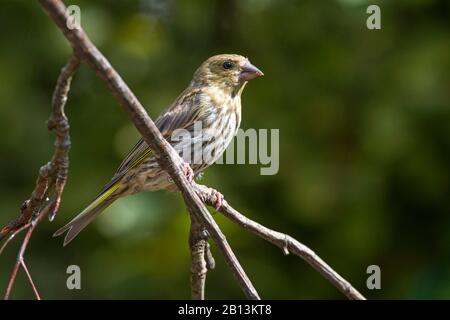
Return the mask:
<path id="1" fill-rule="evenodd" d="M 96 216 L 98 216 L 103 210 L 108 208 L 117 197 L 112 196 L 120 186 L 120 182 L 114 183 L 111 187 L 103 191 L 86 209 L 72 219 L 64 227 L 56 231 L 53 236 L 57 237 L 67 231 L 64 238 L 64 246 L 72 241 L 81 230 L 83 230 Z"/>

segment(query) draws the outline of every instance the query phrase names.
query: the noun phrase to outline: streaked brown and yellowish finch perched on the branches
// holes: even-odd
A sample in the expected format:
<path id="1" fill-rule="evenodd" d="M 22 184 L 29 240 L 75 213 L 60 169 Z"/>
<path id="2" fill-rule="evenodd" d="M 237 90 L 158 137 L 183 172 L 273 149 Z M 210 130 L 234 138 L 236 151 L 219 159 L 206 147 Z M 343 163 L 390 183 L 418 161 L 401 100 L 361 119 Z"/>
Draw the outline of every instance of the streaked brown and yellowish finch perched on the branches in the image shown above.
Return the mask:
<path id="1" fill-rule="evenodd" d="M 242 55 L 212 56 L 200 65 L 187 88 L 157 118 L 155 125 L 182 158 L 189 181 L 219 159 L 230 144 L 241 123 L 244 87 L 263 75 Z M 141 138 L 92 203 L 54 236 L 66 233 L 65 246 L 115 200 L 161 189 L 177 191 Z M 216 207 L 220 207 L 223 196 L 217 192 L 216 199 Z"/>

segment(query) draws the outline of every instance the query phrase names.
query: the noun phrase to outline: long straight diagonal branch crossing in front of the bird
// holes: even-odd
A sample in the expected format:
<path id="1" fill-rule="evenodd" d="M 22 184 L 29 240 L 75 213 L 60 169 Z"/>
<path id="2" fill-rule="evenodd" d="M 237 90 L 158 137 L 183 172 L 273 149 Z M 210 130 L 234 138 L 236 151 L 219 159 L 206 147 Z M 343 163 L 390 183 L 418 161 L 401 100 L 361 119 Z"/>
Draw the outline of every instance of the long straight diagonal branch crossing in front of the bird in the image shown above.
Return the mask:
<path id="1" fill-rule="evenodd" d="M 39 3 L 63 32 L 64 36 L 72 45 L 74 52 L 80 55 L 97 75 L 106 82 L 109 90 L 128 113 L 145 142 L 154 151 L 160 167 L 168 173 L 182 193 L 186 206 L 189 208 L 191 219 L 195 218 L 205 226 L 212 239 L 224 254 L 228 266 L 247 298 L 260 299 L 256 289 L 231 250 L 224 234 L 183 174 L 183 161 L 171 145 L 163 138 L 161 132 L 159 132 L 134 93 L 103 54 L 92 44 L 81 26 L 75 28 L 68 27 L 67 21 L 69 16 L 62 1 L 39 0 Z"/>

